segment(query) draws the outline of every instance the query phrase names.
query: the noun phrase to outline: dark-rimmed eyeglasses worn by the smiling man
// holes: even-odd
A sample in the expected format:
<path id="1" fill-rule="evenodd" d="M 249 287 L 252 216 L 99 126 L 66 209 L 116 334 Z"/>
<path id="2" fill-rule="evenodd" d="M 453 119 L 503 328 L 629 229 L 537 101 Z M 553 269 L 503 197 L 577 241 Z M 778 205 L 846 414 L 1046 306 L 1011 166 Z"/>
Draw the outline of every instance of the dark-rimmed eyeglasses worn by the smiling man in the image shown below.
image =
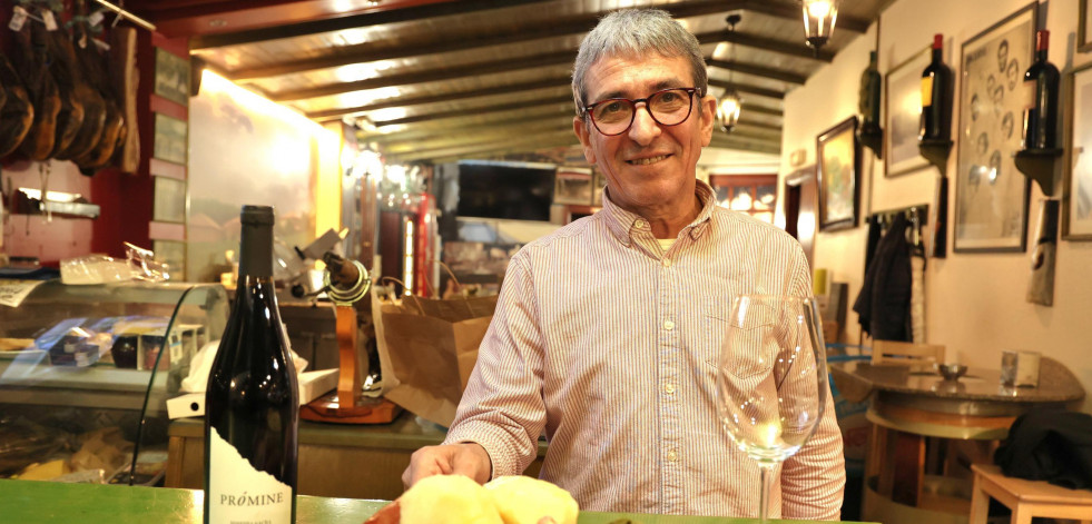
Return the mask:
<path id="1" fill-rule="evenodd" d="M 599 132 L 612 137 L 629 130 L 637 117 L 637 105 L 645 102 L 652 120 L 660 126 L 678 126 L 690 118 L 693 93 L 697 88 L 671 88 L 656 91 L 647 98 L 608 98 L 584 107 Z M 701 96 L 700 93 L 698 96 Z"/>

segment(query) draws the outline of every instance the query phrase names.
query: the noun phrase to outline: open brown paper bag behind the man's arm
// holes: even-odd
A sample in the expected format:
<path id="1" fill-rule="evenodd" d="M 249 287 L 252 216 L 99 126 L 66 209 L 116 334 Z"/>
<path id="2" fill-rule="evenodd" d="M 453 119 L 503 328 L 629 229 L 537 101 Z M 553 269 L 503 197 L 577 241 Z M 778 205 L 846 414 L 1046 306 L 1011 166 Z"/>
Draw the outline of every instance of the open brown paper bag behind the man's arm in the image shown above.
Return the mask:
<path id="1" fill-rule="evenodd" d="M 383 373 L 383 396 L 441 426 L 451 426 L 496 296 L 384 299 L 373 288 L 372 314 Z M 386 364 L 384 364 L 386 362 Z"/>

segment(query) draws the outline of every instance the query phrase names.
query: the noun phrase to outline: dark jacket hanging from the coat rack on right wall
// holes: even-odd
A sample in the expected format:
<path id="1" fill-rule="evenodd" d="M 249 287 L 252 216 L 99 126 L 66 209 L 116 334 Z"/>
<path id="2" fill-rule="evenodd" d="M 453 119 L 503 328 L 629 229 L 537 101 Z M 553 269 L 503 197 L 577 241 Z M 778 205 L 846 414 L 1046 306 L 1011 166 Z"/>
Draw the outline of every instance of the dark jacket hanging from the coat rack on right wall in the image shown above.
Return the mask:
<path id="1" fill-rule="evenodd" d="M 872 263 L 865 269 L 860 294 L 853 305 L 865 333 L 881 340 L 912 340 L 911 245 L 906 239 L 909 221 L 896 214 L 887 233 L 876 245 Z"/>

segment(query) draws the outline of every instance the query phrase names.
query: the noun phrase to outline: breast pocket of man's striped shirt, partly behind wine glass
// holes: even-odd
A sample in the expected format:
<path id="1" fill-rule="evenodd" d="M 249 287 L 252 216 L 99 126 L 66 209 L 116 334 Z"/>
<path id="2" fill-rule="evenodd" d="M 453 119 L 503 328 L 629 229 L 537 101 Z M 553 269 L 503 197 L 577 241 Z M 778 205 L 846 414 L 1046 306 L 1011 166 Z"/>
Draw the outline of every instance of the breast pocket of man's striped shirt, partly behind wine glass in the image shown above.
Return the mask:
<path id="1" fill-rule="evenodd" d="M 705 320 L 715 340 L 707 364 L 724 367 L 738 378 L 768 375 L 777 355 L 777 320 L 773 310 L 750 307 L 744 318 L 734 318 L 732 296 L 709 297 Z"/>

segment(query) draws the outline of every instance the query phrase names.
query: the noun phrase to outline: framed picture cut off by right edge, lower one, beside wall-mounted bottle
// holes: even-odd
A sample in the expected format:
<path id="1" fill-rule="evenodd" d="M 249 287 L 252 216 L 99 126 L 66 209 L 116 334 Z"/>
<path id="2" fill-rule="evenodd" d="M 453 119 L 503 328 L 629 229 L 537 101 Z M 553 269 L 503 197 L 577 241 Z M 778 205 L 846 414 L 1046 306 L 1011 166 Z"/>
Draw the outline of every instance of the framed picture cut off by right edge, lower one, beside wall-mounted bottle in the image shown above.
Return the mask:
<path id="1" fill-rule="evenodd" d="M 1092 65 L 1070 76 L 1071 156 L 1062 197 L 1062 238 L 1092 240 Z"/>

